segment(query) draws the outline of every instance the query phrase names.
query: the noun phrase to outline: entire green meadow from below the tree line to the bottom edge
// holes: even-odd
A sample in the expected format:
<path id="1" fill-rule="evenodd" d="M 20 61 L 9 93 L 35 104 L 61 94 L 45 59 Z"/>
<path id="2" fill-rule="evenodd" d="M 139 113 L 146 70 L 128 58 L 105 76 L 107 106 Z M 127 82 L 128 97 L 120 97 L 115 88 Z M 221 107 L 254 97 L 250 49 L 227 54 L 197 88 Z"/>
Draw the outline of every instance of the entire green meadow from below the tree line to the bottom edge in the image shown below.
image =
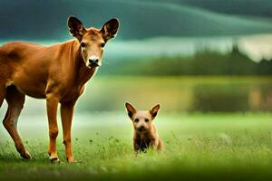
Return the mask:
<path id="1" fill-rule="evenodd" d="M 272 114 L 269 101 L 264 102 L 270 88 L 270 77 L 98 75 L 73 119 L 79 163 L 65 161 L 60 119 L 62 163 L 50 163 L 45 102 L 27 99 L 18 130 L 33 159 L 23 160 L 1 127 L 0 179 L 271 180 Z M 149 150 L 135 157 L 131 120 L 123 107 L 127 100 L 140 110 L 160 102 L 154 123 L 165 146 L 161 153 Z M 0 116 L 4 113 L 5 105 Z"/>

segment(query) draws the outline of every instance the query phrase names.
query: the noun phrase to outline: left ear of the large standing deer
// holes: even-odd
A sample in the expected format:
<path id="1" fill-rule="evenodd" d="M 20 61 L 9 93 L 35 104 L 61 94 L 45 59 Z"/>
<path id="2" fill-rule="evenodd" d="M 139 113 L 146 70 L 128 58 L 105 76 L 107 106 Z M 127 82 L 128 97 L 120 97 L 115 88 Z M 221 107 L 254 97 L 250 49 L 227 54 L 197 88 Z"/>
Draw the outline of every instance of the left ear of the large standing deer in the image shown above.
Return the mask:
<path id="1" fill-rule="evenodd" d="M 75 16 L 71 15 L 68 18 L 68 27 L 73 37 L 77 38 L 78 41 L 81 42 L 83 39 L 83 34 L 86 32 L 83 23 Z"/>

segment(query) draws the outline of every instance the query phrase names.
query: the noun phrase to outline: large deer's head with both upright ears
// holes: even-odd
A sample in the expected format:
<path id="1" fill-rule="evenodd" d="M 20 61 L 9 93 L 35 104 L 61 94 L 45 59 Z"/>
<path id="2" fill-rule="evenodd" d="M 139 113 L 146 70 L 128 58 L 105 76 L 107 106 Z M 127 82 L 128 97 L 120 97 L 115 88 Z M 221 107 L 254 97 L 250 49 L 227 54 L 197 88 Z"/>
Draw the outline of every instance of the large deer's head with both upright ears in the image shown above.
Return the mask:
<path id="1" fill-rule="evenodd" d="M 92 68 L 102 65 L 102 54 L 105 43 L 115 37 L 119 28 L 119 22 L 113 18 L 105 23 L 101 29 L 86 29 L 80 20 L 74 16 L 70 16 L 68 27 L 70 33 L 81 44 L 81 53 L 86 66 Z"/>

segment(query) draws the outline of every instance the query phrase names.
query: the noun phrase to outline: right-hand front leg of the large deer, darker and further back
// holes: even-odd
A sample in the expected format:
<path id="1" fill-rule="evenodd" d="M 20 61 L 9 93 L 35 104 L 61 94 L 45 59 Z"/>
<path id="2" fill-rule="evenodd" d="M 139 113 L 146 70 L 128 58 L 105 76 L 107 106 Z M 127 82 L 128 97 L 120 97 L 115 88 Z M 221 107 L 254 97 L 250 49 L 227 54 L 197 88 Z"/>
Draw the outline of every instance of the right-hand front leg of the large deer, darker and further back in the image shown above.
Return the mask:
<path id="1" fill-rule="evenodd" d="M 71 127 L 73 120 L 74 102 L 65 102 L 61 105 L 61 115 L 63 123 L 63 144 L 65 145 L 66 158 L 69 163 L 75 162 L 73 159 L 71 143 Z"/>

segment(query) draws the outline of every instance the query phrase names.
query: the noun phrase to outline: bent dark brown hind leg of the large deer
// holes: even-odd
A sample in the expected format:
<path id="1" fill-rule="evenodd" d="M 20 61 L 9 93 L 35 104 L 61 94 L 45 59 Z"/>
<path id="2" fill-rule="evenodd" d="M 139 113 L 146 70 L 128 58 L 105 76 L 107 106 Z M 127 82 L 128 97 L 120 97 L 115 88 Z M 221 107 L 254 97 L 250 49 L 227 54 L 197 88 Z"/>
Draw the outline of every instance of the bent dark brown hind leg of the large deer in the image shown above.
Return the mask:
<path id="1" fill-rule="evenodd" d="M 15 148 L 20 153 L 21 157 L 30 159 L 31 156 L 24 148 L 22 139 L 20 138 L 17 131 L 17 120 L 20 116 L 21 110 L 23 110 L 24 107 L 24 97 L 25 95 L 17 90 L 15 86 L 9 86 L 6 89 L 5 100 L 7 101 L 8 109 L 5 113 L 3 124 L 11 138 L 13 138 L 15 142 Z"/>

